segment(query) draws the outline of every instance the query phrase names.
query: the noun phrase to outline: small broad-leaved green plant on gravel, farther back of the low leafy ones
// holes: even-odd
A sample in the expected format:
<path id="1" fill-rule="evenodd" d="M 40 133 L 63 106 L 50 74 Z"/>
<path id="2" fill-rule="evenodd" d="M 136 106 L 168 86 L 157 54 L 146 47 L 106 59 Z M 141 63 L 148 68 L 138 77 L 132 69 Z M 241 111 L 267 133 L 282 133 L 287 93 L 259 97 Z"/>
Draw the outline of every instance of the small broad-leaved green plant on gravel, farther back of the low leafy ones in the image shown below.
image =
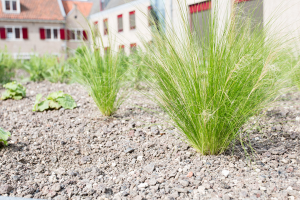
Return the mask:
<path id="1" fill-rule="evenodd" d="M 5 91 L 1 95 L 1 100 L 7 98 L 19 100 L 26 96 L 26 88 L 16 81 L 3 84 L 3 87 L 5 88 Z"/>

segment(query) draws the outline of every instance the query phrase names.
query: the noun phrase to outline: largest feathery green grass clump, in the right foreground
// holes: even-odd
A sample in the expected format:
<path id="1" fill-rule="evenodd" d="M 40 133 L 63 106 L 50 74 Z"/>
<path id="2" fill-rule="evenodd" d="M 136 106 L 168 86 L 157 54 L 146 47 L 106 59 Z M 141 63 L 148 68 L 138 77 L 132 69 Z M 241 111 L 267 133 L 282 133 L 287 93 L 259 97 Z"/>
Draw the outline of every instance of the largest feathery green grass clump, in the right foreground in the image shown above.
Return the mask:
<path id="1" fill-rule="evenodd" d="M 268 24 L 253 26 L 238 11 L 222 25 L 212 8 L 201 34 L 191 30 L 185 4 L 179 7 L 180 27 L 157 26 L 146 49 L 144 62 L 155 77 L 148 81 L 155 95 L 148 96 L 184 141 L 203 155 L 219 154 L 241 137 L 251 116 L 287 91 L 289 51 Z"/>

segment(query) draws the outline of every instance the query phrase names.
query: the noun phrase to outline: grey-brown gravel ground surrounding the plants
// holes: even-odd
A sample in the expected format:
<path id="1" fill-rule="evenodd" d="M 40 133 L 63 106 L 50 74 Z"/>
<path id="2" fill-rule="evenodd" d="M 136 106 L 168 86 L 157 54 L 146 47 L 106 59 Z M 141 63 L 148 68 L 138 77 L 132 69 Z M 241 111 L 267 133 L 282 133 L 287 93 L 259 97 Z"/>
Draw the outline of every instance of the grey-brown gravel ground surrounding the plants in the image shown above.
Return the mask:
<path id="1" fill-rule="evenodd" d="M 201 156 L 133 104 L 100 115 L 77 84 L 24 84 L 27 97 L 0 101 L 0 194 L 46 199 L 300 199 L 299 96 L 287 95 L 249 131 L 252 162 L 237 145 Z M 78 107 L 32 112 L 37 93 L 63 90 Z M 3 92 L 3 89 L 0 89 Z M 138 101 L 137 101 L 138 100 Z M 254 120 L 254 119 L 253 119 Z M 162 127 L 161 127 L 162 126 Z M 250 148 L 248 148 L 250 150 Z"/>

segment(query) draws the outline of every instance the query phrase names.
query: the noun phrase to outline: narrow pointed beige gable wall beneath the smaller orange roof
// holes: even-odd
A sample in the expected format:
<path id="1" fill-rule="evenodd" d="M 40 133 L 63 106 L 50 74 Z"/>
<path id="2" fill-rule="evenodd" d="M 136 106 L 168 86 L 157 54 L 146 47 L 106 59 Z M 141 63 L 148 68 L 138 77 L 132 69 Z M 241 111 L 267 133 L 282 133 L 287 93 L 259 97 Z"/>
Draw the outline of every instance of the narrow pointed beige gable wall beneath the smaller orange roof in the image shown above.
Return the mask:
<path id="1" fill-rule="evenodd" d="M 67 14 L 65 21 L 66 21 L 66 29 L 78 28 L 81 30 L 87 30 L 87 32 L 89 30 L 87 19 L 76 8 L 72 9 Z M 82 45 L 82 42 L 88 42 L 88 41 L 70 40 L 70 41 L 66 41 L 66 46 L 68 48 L 75 49 L 78 46 Z"/>

